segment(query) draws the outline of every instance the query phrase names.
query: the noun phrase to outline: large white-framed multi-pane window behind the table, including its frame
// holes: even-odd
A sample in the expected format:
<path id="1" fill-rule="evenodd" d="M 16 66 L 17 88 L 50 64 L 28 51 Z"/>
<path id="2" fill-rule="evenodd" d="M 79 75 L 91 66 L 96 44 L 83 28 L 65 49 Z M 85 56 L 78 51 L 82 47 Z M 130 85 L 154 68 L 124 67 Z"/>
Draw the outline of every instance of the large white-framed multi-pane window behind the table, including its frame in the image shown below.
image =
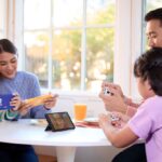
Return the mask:
<path id="1" fill-rule="evenodd" d="M 75 90 L 95 95 L 107 79 L 120 84 L 125 95 L 134 94 L 131 71 L 141 53 L 144 1 L 14 2 L 14 26 L 9 26 L 13 37 L 8 37 L 18 48 L 18 68 L 36 73 L 42 87 L 64 90 L 63 95 Z"/>

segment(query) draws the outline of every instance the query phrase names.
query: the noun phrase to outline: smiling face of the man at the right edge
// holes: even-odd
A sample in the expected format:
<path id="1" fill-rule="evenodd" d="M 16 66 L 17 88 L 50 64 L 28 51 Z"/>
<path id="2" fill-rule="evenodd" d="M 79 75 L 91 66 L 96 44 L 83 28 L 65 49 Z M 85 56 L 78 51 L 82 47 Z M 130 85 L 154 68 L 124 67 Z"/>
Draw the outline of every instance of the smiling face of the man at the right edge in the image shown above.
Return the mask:
<path id="1" fill-rule="evenodd" d="M 162 48 L 162 23 L 160 19 L 147 22 L 146 35 L 150 48 Z"/>

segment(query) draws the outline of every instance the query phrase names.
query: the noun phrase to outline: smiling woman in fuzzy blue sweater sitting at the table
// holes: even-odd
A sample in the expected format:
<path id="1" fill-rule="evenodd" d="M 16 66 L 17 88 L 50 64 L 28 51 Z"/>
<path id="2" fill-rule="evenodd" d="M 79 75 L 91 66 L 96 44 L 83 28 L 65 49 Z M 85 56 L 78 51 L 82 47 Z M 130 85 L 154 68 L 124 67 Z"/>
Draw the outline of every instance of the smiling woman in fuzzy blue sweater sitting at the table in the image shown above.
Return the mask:
<path id="1" fill-rule="evenodd" d="M 44 100 L 44 105 L 33 107 L 24 104 L 24 99 L 40 96 L 40 85 L 35 75 L 26 71 L 17 71 L 17 49 L 8 39 L 0 40 L 0 93 L 16 94 L 12 98 L 13 109 L 2 111 L 6 120 L 18 118 L 44 118 L 56 104 L 56 96 Z M 6 116 L 8 113 L 8 116 Z M 2 116 L 1 116 L 2 117 Z M 3 116 L 4 117 L 4 116 Z M 38 162 L 38 158 L 31 146 L 0 143 L 1 162 Z"/>

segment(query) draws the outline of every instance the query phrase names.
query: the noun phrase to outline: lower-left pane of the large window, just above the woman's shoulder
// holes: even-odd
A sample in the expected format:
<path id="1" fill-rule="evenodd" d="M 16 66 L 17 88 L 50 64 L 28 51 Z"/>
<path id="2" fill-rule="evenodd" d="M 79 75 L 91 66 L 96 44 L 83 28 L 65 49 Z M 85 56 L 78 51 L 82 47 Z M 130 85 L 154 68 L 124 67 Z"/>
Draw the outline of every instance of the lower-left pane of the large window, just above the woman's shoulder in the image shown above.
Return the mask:
<path id="1" fill-rule="evenodd" d="M 43 87 L 48 87 L 48 54 L 46 32 L 25 32 L 25 69 L 36 73 Z"/>

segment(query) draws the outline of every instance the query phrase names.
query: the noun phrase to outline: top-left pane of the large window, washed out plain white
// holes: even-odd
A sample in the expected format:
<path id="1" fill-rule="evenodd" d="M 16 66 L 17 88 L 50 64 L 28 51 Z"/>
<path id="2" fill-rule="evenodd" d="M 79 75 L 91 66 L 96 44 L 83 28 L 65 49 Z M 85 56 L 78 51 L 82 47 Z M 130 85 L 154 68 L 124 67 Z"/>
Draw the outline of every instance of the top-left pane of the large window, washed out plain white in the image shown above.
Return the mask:
<path id="1" fill-rule="evenodd" d="M 24 28 L 43 29 L 50 26 L 51 0 L 24 1 Z"/>

